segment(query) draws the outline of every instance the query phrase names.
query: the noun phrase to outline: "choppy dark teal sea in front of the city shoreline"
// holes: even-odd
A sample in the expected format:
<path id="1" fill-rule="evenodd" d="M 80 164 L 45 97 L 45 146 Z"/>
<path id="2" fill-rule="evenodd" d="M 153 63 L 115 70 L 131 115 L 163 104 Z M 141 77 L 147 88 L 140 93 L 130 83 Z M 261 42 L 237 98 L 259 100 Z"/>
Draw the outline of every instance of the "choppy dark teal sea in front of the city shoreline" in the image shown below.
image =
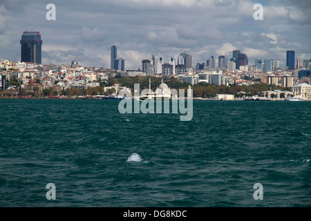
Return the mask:
<path id="1" fill-rule="evenodd" d="M 0 206 L 311 206 L 311 102 L 119 104 L 0 99 Z"/>

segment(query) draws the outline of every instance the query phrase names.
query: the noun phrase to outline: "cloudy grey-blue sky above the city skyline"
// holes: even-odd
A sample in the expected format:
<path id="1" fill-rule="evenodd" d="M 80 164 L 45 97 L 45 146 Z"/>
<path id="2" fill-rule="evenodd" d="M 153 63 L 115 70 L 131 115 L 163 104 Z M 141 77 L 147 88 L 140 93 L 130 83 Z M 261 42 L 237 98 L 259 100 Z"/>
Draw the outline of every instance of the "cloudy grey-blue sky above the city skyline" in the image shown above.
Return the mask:
<path id="1" fill-rule="evenodd" d="M 46 5 L 56 20 L 46 19 Z M 255 3 L 263 20 L 254 20 Z M 167 58 L 188 51 L 192 64 L 238 49 L 255 59 L 280 59 L 286 50 L 311 59 L 310 0 L 0 0 L 0 57 L 20 61 L 23 31 L 41 33 L 42 63 L 110 68 L 117 46 L 126 68 L 140 67 L 152 53 Z"/>

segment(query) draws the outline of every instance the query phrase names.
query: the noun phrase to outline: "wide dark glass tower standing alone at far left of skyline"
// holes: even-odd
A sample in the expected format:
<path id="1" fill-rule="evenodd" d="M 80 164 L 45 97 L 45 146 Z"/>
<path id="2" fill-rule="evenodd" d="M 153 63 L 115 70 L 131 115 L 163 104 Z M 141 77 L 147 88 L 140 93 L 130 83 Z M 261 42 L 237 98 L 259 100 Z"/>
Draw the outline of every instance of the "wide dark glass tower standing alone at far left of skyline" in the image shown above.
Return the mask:
<path id="1" fill-rule="evenodd" d="M 23 32 L 21 35 L 21 62 L 41 64 L 41 35 L 39 32 Z"/>

